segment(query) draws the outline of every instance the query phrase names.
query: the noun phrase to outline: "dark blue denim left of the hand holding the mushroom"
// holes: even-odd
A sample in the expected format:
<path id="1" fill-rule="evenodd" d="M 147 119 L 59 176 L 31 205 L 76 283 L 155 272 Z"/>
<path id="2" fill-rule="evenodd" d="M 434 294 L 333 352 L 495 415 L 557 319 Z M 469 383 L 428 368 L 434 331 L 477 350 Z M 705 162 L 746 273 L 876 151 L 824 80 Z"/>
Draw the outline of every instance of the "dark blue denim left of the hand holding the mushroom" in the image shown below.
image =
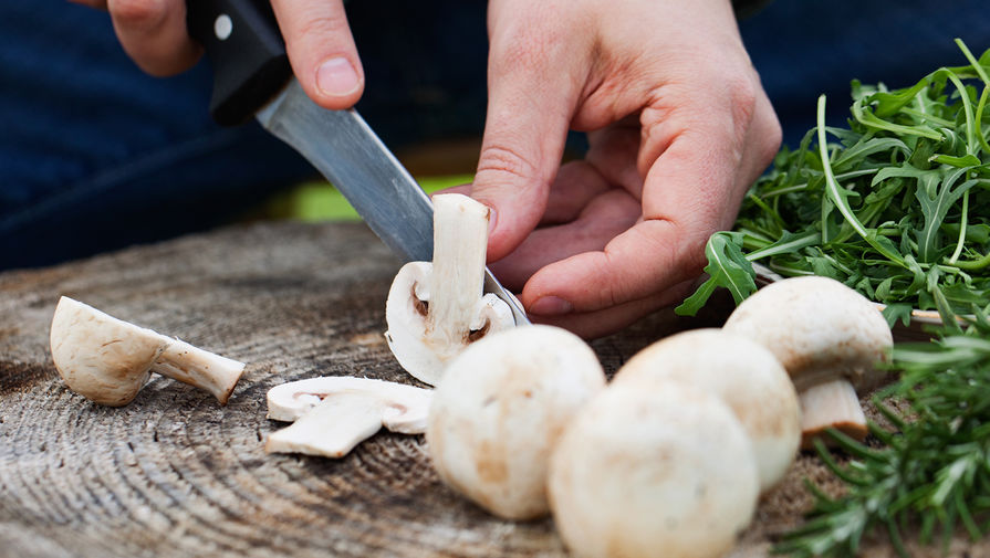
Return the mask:
<path id="1" fill-rule="evenodd" d="M 348 17 L 368 83 L 358 109 L 388 145 L 480 133 L 484 2 L 368 0 Z M 210 90 L 206 62 L 143 74 L 105 12 L 0 2 L 0 270 L 215 227 L 316 178 L 257 124 L 213 124 Z"/>

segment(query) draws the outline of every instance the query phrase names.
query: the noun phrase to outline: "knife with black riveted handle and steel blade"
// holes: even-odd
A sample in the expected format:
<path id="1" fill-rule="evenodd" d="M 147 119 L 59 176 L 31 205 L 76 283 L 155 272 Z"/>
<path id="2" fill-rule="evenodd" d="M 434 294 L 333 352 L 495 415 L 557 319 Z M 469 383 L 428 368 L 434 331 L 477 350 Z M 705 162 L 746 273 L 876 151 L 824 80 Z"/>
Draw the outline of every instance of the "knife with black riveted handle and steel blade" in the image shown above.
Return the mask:
<path id="1" fill-rule="evenodd" d="M 256 116 L 302 154 L 404 261 L 433 260 L 433 204 L 356 110 L 313 103 L 292 75 L 268 0 L 187 0 L 190 36 L 213 67 L 210 114 L 221 125 Z M 486 267 L 486 293 L 529 324 L 519 301 Z"/>

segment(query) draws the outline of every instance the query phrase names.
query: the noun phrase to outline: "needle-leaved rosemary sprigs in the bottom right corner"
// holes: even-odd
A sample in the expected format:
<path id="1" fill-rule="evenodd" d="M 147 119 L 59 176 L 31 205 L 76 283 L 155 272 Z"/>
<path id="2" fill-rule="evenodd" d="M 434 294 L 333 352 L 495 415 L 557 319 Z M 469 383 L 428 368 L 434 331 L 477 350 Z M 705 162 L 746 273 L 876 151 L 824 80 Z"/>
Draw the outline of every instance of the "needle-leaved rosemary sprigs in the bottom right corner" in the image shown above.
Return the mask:
<path id="1" fill-rule="evenodd" d="M 809 484 L 816 505 L 809 520 L 774 551 L 800 557 L 857 554 L 862 538 L 885 529 L 894 548 L 908 556 L 906 535 L 923 545 L 962 530 L 972 540 L 990 530 L 990 322 L 983 310 L 966 331 L 942 330 L 939 339 L 898 345 L 899 381 L 874 399 L 896 432 L 871 424 L 882 449 L 832 432 L 852 461 L 837 464 L 819 442 L 819 454 L 848 492 L 832 498 Z M 897 412 L 884 401 L 900 401 Z"/>

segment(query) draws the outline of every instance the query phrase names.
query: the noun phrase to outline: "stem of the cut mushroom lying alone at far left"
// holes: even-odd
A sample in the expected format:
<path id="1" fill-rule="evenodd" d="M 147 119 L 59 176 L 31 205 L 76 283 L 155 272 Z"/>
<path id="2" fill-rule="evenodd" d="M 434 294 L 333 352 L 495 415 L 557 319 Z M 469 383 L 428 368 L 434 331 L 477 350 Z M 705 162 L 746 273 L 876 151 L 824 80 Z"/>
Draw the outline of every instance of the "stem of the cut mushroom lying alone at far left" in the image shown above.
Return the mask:
<path id="1" fill-rule="evenodd" d="M 243 362 L 194 347 L 181 339 L 169 339 L 168 343 L 152 365 L 152 371 L 209 391 L 220 404 L 227 404 L 244 371 Z"/>

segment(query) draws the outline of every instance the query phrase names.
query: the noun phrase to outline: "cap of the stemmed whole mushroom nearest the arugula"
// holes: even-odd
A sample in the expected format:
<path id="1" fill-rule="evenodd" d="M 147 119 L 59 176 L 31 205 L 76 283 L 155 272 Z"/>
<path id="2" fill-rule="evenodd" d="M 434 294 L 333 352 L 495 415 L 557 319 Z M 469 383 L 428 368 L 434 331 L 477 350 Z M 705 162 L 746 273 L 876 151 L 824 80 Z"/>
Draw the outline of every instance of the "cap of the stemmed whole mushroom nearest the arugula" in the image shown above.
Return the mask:
<path id="1" fill-rule="evenodd" d="M 888 359 L 894 344 L 887 320 L 873 303 L 820 276 L 764 286 L 736 308 L 723 328 L 770 349 L 798 391 L 840 377 L 857 390 L 873 389 L 885 376 L 876 365 Z"/>

